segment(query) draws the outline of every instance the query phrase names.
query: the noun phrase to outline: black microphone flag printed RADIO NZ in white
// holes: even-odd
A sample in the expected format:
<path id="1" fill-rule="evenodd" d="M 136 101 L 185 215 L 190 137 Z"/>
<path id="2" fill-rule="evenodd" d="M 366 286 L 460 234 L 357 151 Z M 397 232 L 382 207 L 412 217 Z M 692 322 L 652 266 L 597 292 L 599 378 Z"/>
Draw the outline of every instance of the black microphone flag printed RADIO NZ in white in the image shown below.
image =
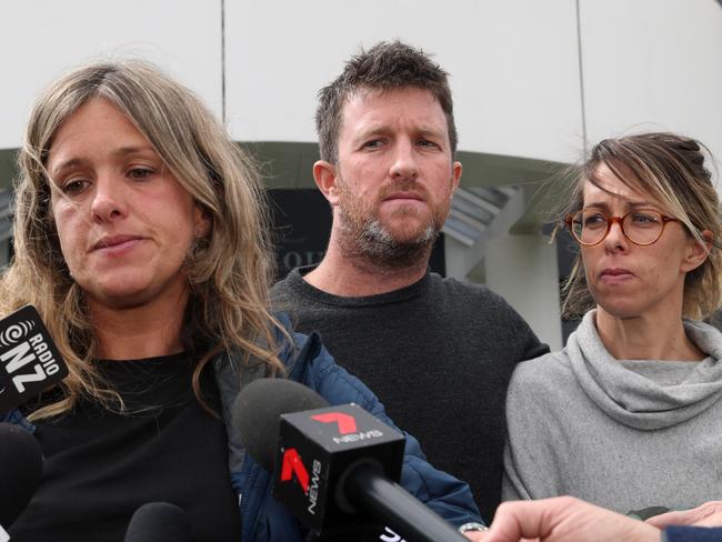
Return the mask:
<path id="1" fill-rule="evenodd" d="M 27 305 L 0 320 L 0 413 L 68 375 L 40 314 Z"/>

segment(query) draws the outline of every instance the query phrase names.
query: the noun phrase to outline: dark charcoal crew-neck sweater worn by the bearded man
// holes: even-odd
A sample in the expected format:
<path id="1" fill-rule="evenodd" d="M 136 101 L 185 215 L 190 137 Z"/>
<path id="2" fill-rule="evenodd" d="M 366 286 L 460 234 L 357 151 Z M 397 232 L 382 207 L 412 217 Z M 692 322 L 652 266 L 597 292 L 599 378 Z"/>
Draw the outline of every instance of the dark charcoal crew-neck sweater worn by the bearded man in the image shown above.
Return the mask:
<path id="1" fill-rule="evenodd" d="M 482 516 L 501 501 L 507 387 L 519 361 L 549 351 L 488 288 L 427 273 L 379 295 L 325 293 L 294 270 L 272 289 L 297 331 L 319 331 L 429 462 L 469 482 Z"/>

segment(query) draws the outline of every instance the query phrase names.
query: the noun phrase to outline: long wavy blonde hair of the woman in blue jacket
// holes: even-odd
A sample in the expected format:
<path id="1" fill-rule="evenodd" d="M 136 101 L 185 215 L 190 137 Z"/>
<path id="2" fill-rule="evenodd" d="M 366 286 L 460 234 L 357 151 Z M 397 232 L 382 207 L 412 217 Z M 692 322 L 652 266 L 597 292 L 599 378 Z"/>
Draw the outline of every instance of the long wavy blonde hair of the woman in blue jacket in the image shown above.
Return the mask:
<path id="1" fill-rule="evenodd" d="M 93 324 L 60 251 L 46 171 L 58 129 L 96 98 L 128 117 L 210 218 L 209 235 L 194 244 L 185 263 L 190 300 L 181 340 L 195 364 L 198 399 L 203 403 L 200 372 L 221 351 L 241 352 L 247 362 L 265 363 L 270 373 L 283 371 L 274 340 L 282 327 L 268 310 L 274 259 L 255 164 L 191 91 L 158 68 L 141 61 L 93 63 L 40 97 L 18 158 L 14 258 L 0 280 L 0 313 L 33 304 L 70 370 L 60 384 L 62 399 L 31 419 L 66 412 L 81 395 L 108 406 L 119 399 L 93 369 Z"/>

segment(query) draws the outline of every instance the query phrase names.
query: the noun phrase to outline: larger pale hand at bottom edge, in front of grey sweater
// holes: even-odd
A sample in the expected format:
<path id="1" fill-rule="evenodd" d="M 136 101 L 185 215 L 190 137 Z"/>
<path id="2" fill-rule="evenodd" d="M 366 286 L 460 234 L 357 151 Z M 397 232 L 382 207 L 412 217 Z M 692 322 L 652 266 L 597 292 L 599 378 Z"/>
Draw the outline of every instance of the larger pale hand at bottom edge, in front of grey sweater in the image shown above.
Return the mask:
<path id="1" fill-rule="evenodd" d="M 661 538 L 655 526 L 571 496 L 502 503 L 491 529 L 482 534 L 484 542 L 659 542 Z"/>

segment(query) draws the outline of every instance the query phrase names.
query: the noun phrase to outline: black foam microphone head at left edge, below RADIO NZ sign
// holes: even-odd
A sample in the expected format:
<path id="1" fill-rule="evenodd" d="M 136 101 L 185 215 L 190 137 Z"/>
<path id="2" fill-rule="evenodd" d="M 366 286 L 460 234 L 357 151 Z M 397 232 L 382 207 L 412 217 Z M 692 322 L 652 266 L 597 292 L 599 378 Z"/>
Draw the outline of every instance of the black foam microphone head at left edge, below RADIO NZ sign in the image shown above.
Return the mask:
<path id="1" fill-rule="evenodd" d="M 42 450 L 19 425 L 0 423 L 0 525 L 9 528 L 42 480 Z"/>

